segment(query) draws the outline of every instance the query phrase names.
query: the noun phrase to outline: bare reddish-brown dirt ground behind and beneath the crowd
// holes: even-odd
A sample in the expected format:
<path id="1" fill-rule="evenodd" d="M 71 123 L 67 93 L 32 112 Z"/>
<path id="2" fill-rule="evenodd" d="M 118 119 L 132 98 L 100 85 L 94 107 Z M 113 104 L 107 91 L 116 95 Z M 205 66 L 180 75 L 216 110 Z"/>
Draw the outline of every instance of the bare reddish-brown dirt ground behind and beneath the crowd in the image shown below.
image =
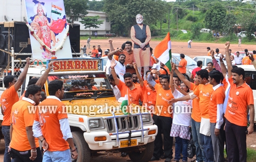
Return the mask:
<path id="1" fill-rule="evenodd" d="M 130 41 L 129 38 L 112 38 L 113 39 L 113 46 L 114 48 L 120 48 L 121 45 L 126 42 Z M 86 45 L 87 40 L 81 40 L 81 47 Z M 150 46 L 155 49 L 155 47 L 160 43 L 160 41 L 151 41 Z M 91 40 L 91 47 L 90 49 L 87 49 L 87 52 L 91 52 L 93 49 L 93 46 L 97 45 L 101 46 L 102 51 L 109 49 L 109 43 L 107 39 L 94 39 L 92 37 Z M 196 43 L 192 42 L 192 48 L 188 49 L 188 43 L 187 42 L 171 42 L 172 44 L 172 53 L 183 53 L 186 55 L 189 55 L 190 57 L 195 57 L 198 55 L 206 55 L 207 51 L 206 48 L 210 47 L 211 49 L 220 49 L 220 53 L 224 54 L 224 44 L 217 44 L 217 43 Z M 232 50 L 232 53 L 236 51 L 243 51 L 244 49 L 248 49 L 249 51 L 256 50 L 256 45 L 243 45 L 242 47 L 238 47 L 237 44 L 231 44 L 230 49 Z M 252 148 L 256 150 L 256 127 L 254 128 L 254 133 L 252 135 L 247 136 L 247 148 Z M 173 145 L 174 149 L 174 145 Z M 129 157 L 121 157 L 121 153 L 104 153 L 101 152 L 102 155 L 98 156 L 96 158 L 91 158 L 91 162 L 128 162 L 130 161 Z M 0 140 L 0 162 L 3 162 L 3 154 L 4 154 L 4 140 Z M 174 156 L 174 154 L 173 154 Z M 189 162 L 191 159 L 189 159 Z M 130 161 L 131 162 L 131 161 Z M 159 161 L 155 162 L 164 162 L 164 159 L 160 159 Z"/>

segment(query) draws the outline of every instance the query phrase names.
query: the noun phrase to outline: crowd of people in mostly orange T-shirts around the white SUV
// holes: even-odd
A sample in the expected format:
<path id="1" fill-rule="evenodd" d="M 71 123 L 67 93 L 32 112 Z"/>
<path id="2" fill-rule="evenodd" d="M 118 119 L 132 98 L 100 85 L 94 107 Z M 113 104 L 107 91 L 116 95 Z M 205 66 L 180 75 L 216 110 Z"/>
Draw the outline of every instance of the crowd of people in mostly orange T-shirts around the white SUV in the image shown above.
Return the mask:
<path id="1" fill-rule="evenodd" d="M 114 49 L 111 39 L 108 42 L 111 52 L 107 54 L 109 60 L 105 70 L 116 99 L 128 94 L 130 103 L 145 106 L 158 126 L 151 161 L 162 158 L 164 162 L 172 159 L 179 162 L 182 154 L 182 161 L 188 162 L 188 143 L 192 137 L 196 149 L 193 162 L 246 162 L 246 135 L 254 131 L 254 97 L 252 89 L 244 81 L 244 69 L 232 63 L 229 42 L 224 45 L 224 54 L 220 54 L 219 49 L 215 54 L 207 48 L 212 62 L 207 64 L 207 69 L 201 69 L 202 61 L 197 61 L 198 67 L 193 69 L 191 75 L 193 83 L 185 77 L 187 61 L 184 54 L 180 54 L 179 64 L 171 62 L 171 69 L 152 56 L 151 70 L 141 73 L 134 62 L 132 42 L 127 41 L 117 49 Z M 95 46 L 94 50 L 92 54 L 96 55 Z M 150 51 L 153 54 L 152 48 Z M 255 55 L 246 54 L 249 63 L 256 68 Z M 220 57 L 220 64 L 215 57 Z M 239 54 L 234 57 L 239 57 Z M 26 60 L 27 64 L 18 80 L 15 76 L 6 76 L 3 80 L 6 90 L 1 95 L 0 104 L 4 114 L 4 162 L 10 162 L 11 158 L 18 162 L 54 162 L 56 159 L 71 162 L 69 147 L 72 158 L 76 159 L 78 154 L 67 114 L 58 113 L 59 109 L 56 114 L 28 111 L 28 106 L 49 103 L 58 105 L 61 110 L 64 105 L 61 102 L 64 84 L 62 81 L 51 81 L 48 85 L 49 96 L 41 100 L 41 86 L 52 69 L 52 63 L 49 63 L 42 77 L 29 82 L 19 101 L 17 90 L 25 80 L 30 64 L 30 59 Z M 49 134 L 52 130 L 55 130 L 54 134 Z M 43 145 L 43 157 L 38 139 Z M 125 152 L 121 155 L 127 156 Z"/>

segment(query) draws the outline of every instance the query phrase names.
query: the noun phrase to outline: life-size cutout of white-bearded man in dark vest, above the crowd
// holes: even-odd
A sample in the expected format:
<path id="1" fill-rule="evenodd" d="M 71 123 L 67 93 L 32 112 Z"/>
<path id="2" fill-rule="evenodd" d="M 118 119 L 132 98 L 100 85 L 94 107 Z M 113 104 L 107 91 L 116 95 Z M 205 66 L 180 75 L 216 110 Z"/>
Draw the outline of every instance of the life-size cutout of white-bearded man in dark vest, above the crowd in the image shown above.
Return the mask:
<path id="1" fill-rule="evenodd" d="M 144 72 L 149 70 L 150 66 L 150 46 L 151 32 L 149 26 L 143 24 L 143 16 L 136 15 L 137 24 L 130 29 L 130 38 L 134 42 L 134 60 L 141 73 L 141 67 L 144 67 Z M 141 74 L 140 74 L 141 75 Z"/>

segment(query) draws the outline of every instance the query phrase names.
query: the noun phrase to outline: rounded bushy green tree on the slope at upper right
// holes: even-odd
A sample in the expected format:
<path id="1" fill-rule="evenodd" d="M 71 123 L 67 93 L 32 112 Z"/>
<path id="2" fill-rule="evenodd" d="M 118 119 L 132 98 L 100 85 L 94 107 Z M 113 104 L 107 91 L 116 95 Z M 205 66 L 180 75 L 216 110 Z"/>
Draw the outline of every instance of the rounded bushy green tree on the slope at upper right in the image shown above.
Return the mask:
<path id="1" fill-rule="evenodd" d="M 211 30 L 220 31 L 223 29 L 223 24 L 226 22 L 225 17 L 225 7 L 220 2 L 217 2 L 205 13 L 205 27 Z"/>

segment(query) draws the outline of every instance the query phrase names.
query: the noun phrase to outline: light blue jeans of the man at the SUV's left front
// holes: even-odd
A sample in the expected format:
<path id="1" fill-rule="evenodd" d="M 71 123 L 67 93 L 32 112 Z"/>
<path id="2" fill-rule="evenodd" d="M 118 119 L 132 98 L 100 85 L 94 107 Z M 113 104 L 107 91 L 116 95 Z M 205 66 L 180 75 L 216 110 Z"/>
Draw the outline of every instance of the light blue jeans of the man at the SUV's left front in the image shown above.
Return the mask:
<path id="1" fill-rule="evenodd" d="M 43 154 L 43 162 L 71 162 L 70 150 L 46 151 Z"/>

